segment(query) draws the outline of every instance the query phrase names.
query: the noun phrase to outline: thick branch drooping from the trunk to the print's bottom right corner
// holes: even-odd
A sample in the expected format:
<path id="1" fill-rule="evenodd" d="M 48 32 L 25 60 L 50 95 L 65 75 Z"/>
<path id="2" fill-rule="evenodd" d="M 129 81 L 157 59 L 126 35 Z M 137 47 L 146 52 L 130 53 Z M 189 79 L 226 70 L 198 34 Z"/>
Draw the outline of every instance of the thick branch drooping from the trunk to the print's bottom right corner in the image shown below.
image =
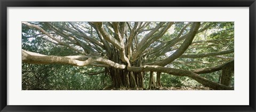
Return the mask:
<path id="1" fill-rule="evenodd" d="M 209 79 L 199 76 L 198 74 L 189 70 L 167 68 L 167 67 L 161 67 L 161 66 L 127 67 L 127 70 L 134 71 L 134 72 L 156 71 L 156 72 L 167 73 L 175 76 L 188 76 L 190 78 L 195 79 L 195 81 L 203 84 L 204 86 L 210 87 L 214 90 L 234 90 L 233 87 L 229 87 L 226 85 L 222 85 L 222 84 L 210 81 Z"/>

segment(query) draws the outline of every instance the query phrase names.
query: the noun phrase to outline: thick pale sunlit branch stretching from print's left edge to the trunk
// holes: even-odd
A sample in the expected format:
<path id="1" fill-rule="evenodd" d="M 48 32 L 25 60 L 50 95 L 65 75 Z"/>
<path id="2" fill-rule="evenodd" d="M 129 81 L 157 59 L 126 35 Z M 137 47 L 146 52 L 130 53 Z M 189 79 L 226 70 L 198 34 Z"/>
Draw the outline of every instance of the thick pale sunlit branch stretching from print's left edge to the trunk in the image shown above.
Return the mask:
<path id="1" fill-rule="evenodd" d="M 86 59 L 87 58 L 87 59 Z M 84 61 L 79 61 L 83 60 Z M 86 56 L 68 56 L 68 57 L 59 57 L 54 55 L 43 55 L 33 52 L 28 52 L 26 50 L 22 50 L 22 62 L 26 63 L 35 63 L 35 64 L 66 64 L 73 66 L 87 66 L 92 65 L 94 62 L 98 62 L 107 66 L 111 66 L 118 69 L 124 69 L 125 65 L 120 65 L 108 59 L 102 57 L 86 57 Z"/>

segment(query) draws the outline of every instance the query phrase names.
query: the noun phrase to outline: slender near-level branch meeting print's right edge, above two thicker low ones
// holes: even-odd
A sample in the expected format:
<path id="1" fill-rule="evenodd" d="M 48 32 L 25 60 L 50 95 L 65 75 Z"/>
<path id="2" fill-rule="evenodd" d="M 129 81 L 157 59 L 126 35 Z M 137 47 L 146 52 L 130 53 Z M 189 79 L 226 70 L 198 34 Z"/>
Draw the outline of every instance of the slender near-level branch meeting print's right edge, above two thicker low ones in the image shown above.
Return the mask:
<path id="1" fill-rule="evenodd" d="M 211 52 L 211 53 L 202 53 L 202 54 L 183 54 L 180 58 L 203 58 L 203 57 L 210 57 L 214 55 L 223 55 L 228 53 L 233 53 L 234 49 L 221 51 L 221 52 Z"/>

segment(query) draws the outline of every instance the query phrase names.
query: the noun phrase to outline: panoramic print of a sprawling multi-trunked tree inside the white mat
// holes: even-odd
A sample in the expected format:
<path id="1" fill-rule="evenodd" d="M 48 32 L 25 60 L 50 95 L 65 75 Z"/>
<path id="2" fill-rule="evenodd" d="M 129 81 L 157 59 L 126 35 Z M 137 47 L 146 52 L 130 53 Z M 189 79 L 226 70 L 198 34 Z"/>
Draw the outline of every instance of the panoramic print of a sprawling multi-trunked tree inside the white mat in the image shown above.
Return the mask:
<path id="1" fill-rule="evenodd" d="M 234 22 L 22 22 L 23 90 L 234 90 Z"/>

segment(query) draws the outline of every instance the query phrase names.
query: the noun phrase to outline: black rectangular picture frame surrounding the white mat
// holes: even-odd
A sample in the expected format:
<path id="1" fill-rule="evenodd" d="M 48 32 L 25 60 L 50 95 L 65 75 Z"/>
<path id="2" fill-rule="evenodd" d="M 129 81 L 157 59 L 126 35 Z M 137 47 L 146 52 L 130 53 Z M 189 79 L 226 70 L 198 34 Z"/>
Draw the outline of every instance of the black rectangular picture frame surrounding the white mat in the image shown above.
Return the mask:
<path id="1" fill-rule="evenodd" d="M 0 0 L 1 111 L 255 111 L 255 0 Z M 7 7 L 250 7 L 250 105 L 248 106 L 13 106 L 7 103 Z"/>

